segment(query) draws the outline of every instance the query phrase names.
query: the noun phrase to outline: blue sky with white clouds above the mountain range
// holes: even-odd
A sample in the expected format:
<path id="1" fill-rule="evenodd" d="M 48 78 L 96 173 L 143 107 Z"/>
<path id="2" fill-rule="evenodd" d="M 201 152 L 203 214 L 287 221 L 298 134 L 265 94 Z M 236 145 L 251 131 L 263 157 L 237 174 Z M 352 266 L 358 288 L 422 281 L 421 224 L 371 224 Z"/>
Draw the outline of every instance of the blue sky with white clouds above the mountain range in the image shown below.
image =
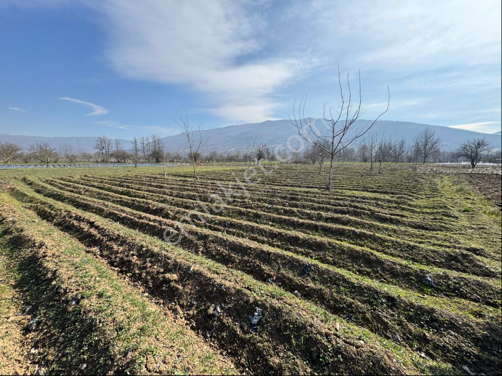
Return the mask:
<path id="1" fill-rule="evenodd" d="M 131 139 L 364 115 L 501 129 L 499 0 L 0 0 L 0 133 Z"/>

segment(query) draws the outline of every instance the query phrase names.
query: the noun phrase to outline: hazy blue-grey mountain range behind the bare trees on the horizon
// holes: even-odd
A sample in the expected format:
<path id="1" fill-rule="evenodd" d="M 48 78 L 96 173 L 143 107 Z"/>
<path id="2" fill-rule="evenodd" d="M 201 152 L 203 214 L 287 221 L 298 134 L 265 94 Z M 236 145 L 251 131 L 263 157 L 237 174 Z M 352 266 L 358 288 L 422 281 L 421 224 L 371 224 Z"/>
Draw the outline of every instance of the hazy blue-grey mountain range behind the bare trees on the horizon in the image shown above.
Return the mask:
<path id="1" fill-rule="evenodd" d="M 312 120 L 311 118 L 307 119 L 309 122 Z M 369 122 L 369 120 L 357 120 L 354 124 L 354 130 L 357 128 L 363 129 Z M 317 121 L 316 126 L 321 127 L 321 122 Z M 487 134 L 437 125 L 389 120 L 383 120 L 374 125 L 371 132 L 378 132 L 379 135 L 384 135 L 387 138 L 392 137 L 392 139 L 404 138 L 408 142 L 411 142 L 413 136 L 427 126 L 431 126 L 436 132 L 436 135 L 441 137 L 443 140 L 442 146 L 447 150 L 453 150 L 463 141 L 475 137 L 484 137 L 491 142 L 493 147 L 501 147 L 500 132 Z M 261 142 L 267 145 L 275 146 L 282 144 L 284 147 L 286 146 L 288 138 L 293 136 L 290 142 L 296 147 L 296 145 L 298 145 L 298 140 L 294 136 L 296 134 L 296 128 L 290 124 L 289 120 L 268 120 L 262 123 L 229 125 L 222 128 L 204 130 L 203 137 L 207 138 L 207 142 L 201 147 L 200 151 L 203 153 L 212 150 L 222 151 L 224 153 L 243 151 L 246 149 L 249 140 L 255 136 L 260 137 Z M 194 132 L 194 136 L 195 142 L 197 142 L 198 133 Z M 350 134 L 347 134 L 347 137 L 349 136 Z M 38 141 L 48 142 L 56 148 L 64 143 L 70 143 L 87 151 L 93 151 L 92 147 L 95 139 L 95 137 L 37 137 L 0 134 L 0 141 L 14 142 L 21 145 L 24 149 L 28 149 L 31 144 Z M 122 147 L 130 147 L 130 142 L 128 140 L 121 139 L 120 142 Z M 186 148 L 186 138 L 183 133 L 164 137 L 164 142 L 169 151 L 183 152 Z"/>

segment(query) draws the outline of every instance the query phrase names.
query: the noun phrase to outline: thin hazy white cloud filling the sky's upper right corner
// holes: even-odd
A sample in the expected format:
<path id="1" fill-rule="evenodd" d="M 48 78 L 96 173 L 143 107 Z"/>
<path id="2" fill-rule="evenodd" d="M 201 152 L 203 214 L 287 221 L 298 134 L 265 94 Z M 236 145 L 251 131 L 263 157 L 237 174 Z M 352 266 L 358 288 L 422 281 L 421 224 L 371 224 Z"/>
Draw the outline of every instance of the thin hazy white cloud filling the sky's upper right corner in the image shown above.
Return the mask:
<path id="1" fill-rule="evenodd" d="M 314 0 L 308 6 L 297 3 L 293 15 L 309 23 L 304 40 L 318 46 L 329 43 L 341 52 L 340 59 L 356 66 L 409 71 L 500 61 L 497 0 L 375 0 L 364 7 L 358 2 Z"/>

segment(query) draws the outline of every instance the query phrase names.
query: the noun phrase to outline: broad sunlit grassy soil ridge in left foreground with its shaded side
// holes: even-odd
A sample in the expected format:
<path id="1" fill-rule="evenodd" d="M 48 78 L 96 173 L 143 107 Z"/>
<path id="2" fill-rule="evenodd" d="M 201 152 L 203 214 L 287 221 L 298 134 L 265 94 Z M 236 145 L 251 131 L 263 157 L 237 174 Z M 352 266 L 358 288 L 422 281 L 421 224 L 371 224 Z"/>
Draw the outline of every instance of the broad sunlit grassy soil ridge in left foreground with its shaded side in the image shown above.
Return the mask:
<path id="1" fill-rule="evenodd" d="M 232 363 L 81 244 L 11 196 L 0 193 L 0 201 L 3 252 L 17 263 L 18 283 L 42 320 L 33 337 L 38 364 L 67 374 L 236 373 Z"/>

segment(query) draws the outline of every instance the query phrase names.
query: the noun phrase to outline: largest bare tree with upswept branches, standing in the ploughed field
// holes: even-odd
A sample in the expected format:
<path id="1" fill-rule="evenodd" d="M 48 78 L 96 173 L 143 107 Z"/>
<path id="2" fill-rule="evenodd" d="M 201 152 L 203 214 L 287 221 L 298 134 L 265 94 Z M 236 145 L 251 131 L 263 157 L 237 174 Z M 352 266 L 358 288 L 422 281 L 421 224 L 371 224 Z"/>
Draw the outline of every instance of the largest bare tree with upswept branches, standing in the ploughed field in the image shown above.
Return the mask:
<path id="1" fill-rule="evenodd" d="M 326 152 L 329 153 L 329 173 L 328 173 L 328 182 L 326 184 L 326 189 L 331 189 L 331 174 L 333 171 L 333 159 L 337 153 L 339 153 L 344 148 L 350 146 L 355 140 L 360 137 L 363 137 L 364 134 L 371 129 L 371 127 L 380 121 L 382 115 L 384 115 L 389 110 L 389 104 L 391 101 L 391 93 L 389 91 L 389 87 L 387 87 L 387 91 L 389 94 L 389 99 L 387 102 L 387 108 L 384 112 L 382 112 L 378 117 L 374 118 L 373 121 L 369 124 L 366 124 L 362 129 L 353 129 L 354 123 L 357 119 L 362 116 L 362 107 L 361 107 L 361 74 L 359 72 L 359 103 L 356 107 L 352 105 L 352 93 L 350 91 L 350 82 L 348 79 L 347 73 L 347 86 L 348 86 L 348 98 L 343 94 L 341 78 L 340 78 L 340 68 L 338 67 L 338 84 L 340 87 L 340 105 L 339 110 L 335 111 L 336 115 L 333 116 L 331 114 L 331 108 L 329 109 L 329 118 L 326 118 L 325 111 L 323 111 L 323 119 L 325 124 L 323 127 L 318 130 L 314 129 L 314 124 L 307 123 L 305 120 L 305 102 L 307 98 L 302 98 L 300 102 L 300 106 L 298 107 L 298 115 L 299 119 L 296 119 L 295 116 L 295 103 L 293 104 L 293 116 L 294 121 L 290 118 L 290 123 L 294 125 L 298 131 L 298 135 L 302 137 L 305 141 L 311 144 L 317 144 L 321 148 L 324 148 Z M 303 107 L 302 107 L 303 102 Z M 323 106 L 325 110 L 326 105 Z M 303 116 L 303 120 L 302 120 Z M 323 134 L 323 129 L 327 131 L 327 134 Z M 324 141 L 320 143 L 319 140 Z"/>

